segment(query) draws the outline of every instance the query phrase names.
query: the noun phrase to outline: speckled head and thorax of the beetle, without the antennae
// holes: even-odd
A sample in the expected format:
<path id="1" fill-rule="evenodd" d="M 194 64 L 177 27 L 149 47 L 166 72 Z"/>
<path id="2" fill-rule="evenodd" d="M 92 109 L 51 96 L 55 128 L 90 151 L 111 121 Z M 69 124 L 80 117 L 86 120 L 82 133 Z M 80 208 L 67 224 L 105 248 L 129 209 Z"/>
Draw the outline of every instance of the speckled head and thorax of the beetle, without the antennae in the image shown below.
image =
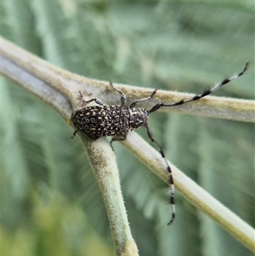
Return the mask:
<path id="1" fill-rule="evenodd" d="M 137 129 L 147 124 L 149 118 L 149 112 L 144 109 L 131 108 L 130 111 L 130 129 Z"/>

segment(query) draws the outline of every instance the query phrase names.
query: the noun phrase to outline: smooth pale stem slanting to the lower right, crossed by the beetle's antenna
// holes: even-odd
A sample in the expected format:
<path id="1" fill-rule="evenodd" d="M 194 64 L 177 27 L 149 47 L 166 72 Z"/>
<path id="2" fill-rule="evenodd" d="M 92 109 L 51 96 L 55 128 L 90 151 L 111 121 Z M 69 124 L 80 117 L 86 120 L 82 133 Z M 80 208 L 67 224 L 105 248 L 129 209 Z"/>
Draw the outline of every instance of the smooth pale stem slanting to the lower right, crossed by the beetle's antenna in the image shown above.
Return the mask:
<path id="1" fill-rule="evenodd" d="M 133 156 L 136 156 L 140 162 L 143 162 L 153 173 L 168 184 L 169 176 L 161 155 L 144 141 L 144 139 L 136 133 L 129 133 L 127 140 L 121 143 L 125 145 Z M 173 171 L 174 184 L 178 192 L 195 205 L 196 208 L 199 208 L 201 212 L 206 213 L 210 218 L 214 219 L 229 234 L 254 251 L 253 228 L 247 225 L 235 213 L 224 207 L 222 203 L 218 202 L 218 200 L 203 190 L 173 164 L 169 164 Z"/>

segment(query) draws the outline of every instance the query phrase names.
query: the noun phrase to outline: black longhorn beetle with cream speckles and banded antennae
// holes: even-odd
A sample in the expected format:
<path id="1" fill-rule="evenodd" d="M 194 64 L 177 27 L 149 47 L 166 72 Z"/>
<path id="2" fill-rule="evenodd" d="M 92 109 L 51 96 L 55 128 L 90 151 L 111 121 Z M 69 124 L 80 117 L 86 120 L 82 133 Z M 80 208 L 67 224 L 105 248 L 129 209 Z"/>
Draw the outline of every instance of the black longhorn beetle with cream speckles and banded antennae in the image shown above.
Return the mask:
<path id="1" fill-rule="evenodd" d="M 164 159 L 164 162 L 166 163 L 167 173 L 169 174 L 169 185 L 171 191 L 169 202 L 172 205 L 172 218 L 167 223 L 167 225 L 169 225 L 173 222 L 173 219 L 175 218 L 173 174 L 167 162 L 165 154 L 161 149 L 161 146 L 157 144 L 155 139 L 153 139 L 153 135 L 148 126 L 148 118 L 150 116 L 150 113 L 157 111 L 159 108 L 161 108 L 161 106 L 171 107 L 175 105 L 184 105 L 195 100 L 200 100 L 201 98 L 212 94 L 213 92 L 218 90 L 218 88 L 221 88 L 224 84 L 231 82 L 238 77 L 241 77 L 246 71 L 247 67 L 248 62 L 246 62 L 244 69 L 239 74 L 230 78 L 226 78 L 222 82 L 218 82 L 218 84 L 216 84 L 213 88 L 207 89 L 202 94 L 195 94 L 195 96 L 191 97 L 188 100 L 180 100 L 171 104 L 158 103 L 154 105 L 150 110 L 137 108 L 136 105 L 140 102 L 151 100 L 155 96 L 157 89 L 155 89 L 148 98 L 135 100 L 129 106 L 126 105 L 126 95 L 123 94 L 122 91 L 115 88 L 111 82 L 111 87 L 115 89 L 117 93 L 121 94 L 122 105 L 104 105 L 103 102 L 97 98 L 91 100 L 84 100 L 82 93 L 79 92 L 86 104 L 90 102 L 95 102 L 98 105 L 87 106 L 82 109 L 78 109 L 71 114 L 71 121 L 77 128 L 71 138 L 73 139 L 78 131 L 82 131 L 83 133 L 87 134 L 89 138 L 94 140 L 101 137 L 112 136 L 112 147 L 112 142 L 127 139 L 127 134 L 129 131 L 140 127 L 146 128 L 148 137 L 151 142 L 156 145 L 158 151 L 161 154 L 161 157 Z M 119 137 L 116 138 L 116 136 Z"/>

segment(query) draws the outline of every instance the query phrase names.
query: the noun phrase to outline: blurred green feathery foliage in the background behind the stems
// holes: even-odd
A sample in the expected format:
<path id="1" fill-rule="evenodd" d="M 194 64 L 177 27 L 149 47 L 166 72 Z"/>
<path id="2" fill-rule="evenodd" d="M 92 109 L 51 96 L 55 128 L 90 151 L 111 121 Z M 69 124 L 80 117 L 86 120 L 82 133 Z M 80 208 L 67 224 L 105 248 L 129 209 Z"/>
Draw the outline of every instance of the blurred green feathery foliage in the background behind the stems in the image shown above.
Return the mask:
<path id="1" fill-rule="evenodd" d="M 3 0 L 1 17 L 3 37 L 85 77 L 197 93 L 253 66 L 252 0 Z M 1 86 L 3 255 L 114 255 L 71 128 L 8 79 Z M 254 99 L 252 68 L 216 94 Z M 171 162 L 254 226 L 253 124 L 157 112 L 150 128 Z M 121 145 L 115 152 L 140 255 L 252 255 L 178 191 L 167 227 L 166 185 Z"/>

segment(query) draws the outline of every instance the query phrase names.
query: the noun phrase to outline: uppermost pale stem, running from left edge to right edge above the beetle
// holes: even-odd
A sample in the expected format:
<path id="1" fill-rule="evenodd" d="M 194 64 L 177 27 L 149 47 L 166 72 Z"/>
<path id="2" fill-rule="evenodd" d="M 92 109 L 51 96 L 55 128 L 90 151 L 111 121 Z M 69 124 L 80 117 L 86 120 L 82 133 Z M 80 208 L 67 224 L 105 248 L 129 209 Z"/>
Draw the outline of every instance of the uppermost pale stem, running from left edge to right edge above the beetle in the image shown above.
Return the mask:
<path id="1" fill-rule="evenodd" d="M 116 97 L 116 92 L 112 90 L 109 82 L 89 79 L 81 77 L 71 72 L 64 71 L 48 62 L 37 58 L 35 55 L 27 53 L 25 50 L 14 46 L 7 40 L 0 37 L 2 58 L 20 66 L 24 71 L 31 73 L 33 77 L 41 78 L 42 82 L 48 83 L 51 87 L 59 90 L 71 100 L 73 107 L 76 107 L 76 98 L 79 90 L 107 104 L 118 105 L 120 100 Z M 8 75 L 8 71 L 2 68 L 3 74 Z M 20 78 L 18 78 L 20 79 Z M 151 89 L 131 87 L 127 85 L 115 84 L 116 88 L 127 94 L 127 103 L 139 98 L 147 97 L 151 94 Z M 140 104 L 140 107 L 150 109 L 156 103 L 173 103 L 179 100 L 188 99 L 193 94 L 177 93 L 173 91 L 161 91 L 156 93 L 153 100 L 147 101 L 145 104 Z M 253 100 L 238 100 L 232 98 L 221 98 L 207 96 L 198 102 L 190 103 L 189 105 L 179 105 L 178 107 L 161 108 L 159 111 L 178 112 L 202 117 L 214 117 L 230 119 L 242 122 L 255 122 L 254 116 L 254 101 Z"/>

